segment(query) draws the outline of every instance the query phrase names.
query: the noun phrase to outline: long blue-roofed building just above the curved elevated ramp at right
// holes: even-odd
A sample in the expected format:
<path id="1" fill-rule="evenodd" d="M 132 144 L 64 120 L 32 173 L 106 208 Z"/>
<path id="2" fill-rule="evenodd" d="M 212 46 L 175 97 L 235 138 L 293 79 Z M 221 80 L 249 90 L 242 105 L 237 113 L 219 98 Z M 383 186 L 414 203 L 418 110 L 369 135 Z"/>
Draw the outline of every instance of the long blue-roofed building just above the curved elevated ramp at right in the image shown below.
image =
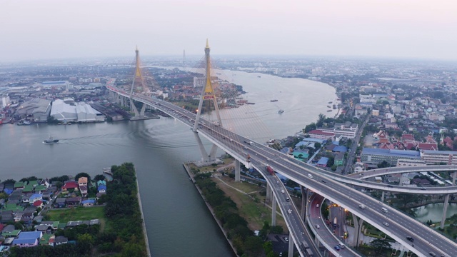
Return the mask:
<path id="1" fill-rule="evenodd" d="M 380 148 L 363 148 L 361 161 L 363 163 L 381 163 L 387 161 L 391 166 L 396 166 L 398 159 L 421 160 L 421 153 L 418 151 L 380 149 Z"/>

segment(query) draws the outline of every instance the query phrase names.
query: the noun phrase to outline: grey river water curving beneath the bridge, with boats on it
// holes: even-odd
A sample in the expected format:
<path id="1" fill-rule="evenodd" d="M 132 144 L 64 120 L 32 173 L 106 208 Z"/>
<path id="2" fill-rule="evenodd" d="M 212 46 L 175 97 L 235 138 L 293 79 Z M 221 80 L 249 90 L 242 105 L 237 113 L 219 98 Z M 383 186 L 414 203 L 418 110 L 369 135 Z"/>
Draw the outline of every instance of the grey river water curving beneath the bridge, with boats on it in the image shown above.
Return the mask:
<path id="1" fill-rule="evenodd" d="M 235 74 L 234 82 L 248 91 L 248 100 L 256 102 L 251 108 L 260 113 L 275 138 L 316 121 L 318 114 L 325 114 L 326 103 L 336 99 L 331 86 L 315 81 L 241 71 Z M 278 102 L 271 103 L 273 97 Z M 284 114 L 279 115 L 278 109 Z M 41 143 L 49 135 L 60 139 L 59 143 Z M 210 147 L 206 140 L 204 143 Z M 189 127 L 179 121 L 162 117 L 70 126 L 4 124 L 0 126 L 0 146 L 1 180 L 79 172 L 94 176 L 113 164 L 132 162 L 153 256 L 233 256 L 182 167 L 185 161 L 200 156 Z"/>

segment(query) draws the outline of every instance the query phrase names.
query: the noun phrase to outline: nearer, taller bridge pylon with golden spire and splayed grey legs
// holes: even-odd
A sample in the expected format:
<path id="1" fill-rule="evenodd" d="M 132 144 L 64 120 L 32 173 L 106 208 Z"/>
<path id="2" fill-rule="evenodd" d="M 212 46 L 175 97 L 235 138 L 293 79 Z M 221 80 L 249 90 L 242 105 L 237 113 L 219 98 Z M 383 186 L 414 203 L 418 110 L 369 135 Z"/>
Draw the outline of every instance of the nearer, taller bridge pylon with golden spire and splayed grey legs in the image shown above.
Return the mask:
<path id="1" fill-rule="evenodd" d="M 199 101 L 199 109 L 197 109 L 197 115 L 194 123 L 194 133 L 197 138 L 197 142 L 199 143 L 199 148 L 201 151 L 201 156 L 202 156 L 202 161 L 216 161 L 216 151 L 217 151 L 217 146 L 213 144 L 211 147 L 210 153 L 206 153 L 205 148 L 203 144 L 201 143 L 201 140 L 199 139 L 199 134 L 197 133 L 197 130 L 199 129 L 199 121 L 200 121 L 200 116 L 201 116 L 201 111 L 202 107 L 204 104 L 204 101 L 213 101 L 214 104 L 214 111 L 216 111 L 216 116 L 217 116 L 217 122 L 216 126 L 222 126 L 222 120 L 221 120 L 221 114 L 219 113 L 219 106 L 217 104 L 217 99 L 216 99 L 216 93 L 214 92 L 214 87 L 213 84 L 211 83 L 211 58 L 209 56 L 209 44 L 208 44 L 208 39 L 206 39 L 206 46 L 205 46 L 205 84 L 203 87 L 203 90 L 201 91 L 201 97 Z"/>

